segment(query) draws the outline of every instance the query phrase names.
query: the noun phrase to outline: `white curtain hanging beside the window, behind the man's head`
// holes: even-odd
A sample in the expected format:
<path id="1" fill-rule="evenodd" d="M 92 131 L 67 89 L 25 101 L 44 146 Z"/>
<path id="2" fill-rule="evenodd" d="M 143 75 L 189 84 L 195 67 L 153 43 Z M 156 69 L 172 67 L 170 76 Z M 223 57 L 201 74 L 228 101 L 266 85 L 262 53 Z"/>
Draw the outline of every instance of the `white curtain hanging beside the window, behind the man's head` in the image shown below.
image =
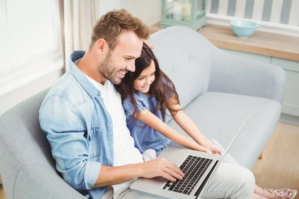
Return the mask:
<path id="1" fill-rule="evenodd" d="M 74 50 L 87 50 L 93 24 L 99 19 L 98 0 L 64 0 L 65 71 Z"/>

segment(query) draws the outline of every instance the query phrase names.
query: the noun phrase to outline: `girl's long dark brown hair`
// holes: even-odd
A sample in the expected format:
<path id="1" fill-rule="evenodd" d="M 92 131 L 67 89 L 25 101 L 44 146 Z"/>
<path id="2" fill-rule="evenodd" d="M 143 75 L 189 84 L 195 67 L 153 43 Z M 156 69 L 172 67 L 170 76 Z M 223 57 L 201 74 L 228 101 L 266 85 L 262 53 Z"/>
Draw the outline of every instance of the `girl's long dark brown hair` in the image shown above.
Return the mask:
<path id="1" fill-rule="evenodd" d="M 157 106 L 153 110 L 153 113 L 160 109 L 164 120 L 166 108 L 169 111 L 179 111 L 177 109 L 171 108 L 170 105 L 175 104 L 172 104 L 173 102 L 170 100 L 170 98 L 173 97 L 177 101 L 176 104 L 179 104 L 179 99 L 172 81 L 165 73 L 163 73 L 163 71 L 160 70 L 158 61 L 147 44 L 143 44 L 141 56 L 135 60 L 135 72 L 128 72 L 121 84 L 115 85 L 115 88 L 121 94 L 122 100 L 125 100 L 128 96 L 130 97 L 131 103 L 134 105 L 135 112 L 137 113 L 138 117 L 139 111 L 134 94 L 135 92 L 139 91 L 134 89 L 134 81 L 140 76 L 143 70 L 149 68 L 151 60 L 153 60 L 155 65 L 155 80 L 149 87 L 149 94 L 153 96 L 157 102 Z"/>

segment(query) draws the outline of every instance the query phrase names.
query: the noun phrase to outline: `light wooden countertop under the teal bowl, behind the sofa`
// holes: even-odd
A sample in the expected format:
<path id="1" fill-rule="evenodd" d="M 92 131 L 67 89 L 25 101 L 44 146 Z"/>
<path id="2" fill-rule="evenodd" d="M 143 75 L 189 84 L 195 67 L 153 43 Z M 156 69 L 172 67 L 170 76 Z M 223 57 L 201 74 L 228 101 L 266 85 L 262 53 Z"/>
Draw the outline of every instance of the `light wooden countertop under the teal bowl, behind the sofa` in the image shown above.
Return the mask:
<path id="1" fill-rule="evenodd" d="M 160 24 L 149 27 L 151 33 L 160 30 Z M 255 31 L 249 38 L 238 38 L 230 26 L 207 24 L 198 30 L 218 48 L 243 51 L 293 61 L 299 61 L 299 37 Z"/>

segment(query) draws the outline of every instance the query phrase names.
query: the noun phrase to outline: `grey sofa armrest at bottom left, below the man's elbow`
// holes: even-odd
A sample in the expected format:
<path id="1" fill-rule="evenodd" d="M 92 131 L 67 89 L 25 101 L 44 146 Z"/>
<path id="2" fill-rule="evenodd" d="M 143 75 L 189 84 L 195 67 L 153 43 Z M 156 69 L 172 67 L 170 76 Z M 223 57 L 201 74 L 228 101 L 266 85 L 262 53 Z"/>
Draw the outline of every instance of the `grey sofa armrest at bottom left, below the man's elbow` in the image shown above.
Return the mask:
<path id="1" fill-rule="evenodd" d="M 19 169 L 13 197 L 16 199 L 86 199 L 70 187 L 54 168 L 42 164 L 26 165 Z"/>

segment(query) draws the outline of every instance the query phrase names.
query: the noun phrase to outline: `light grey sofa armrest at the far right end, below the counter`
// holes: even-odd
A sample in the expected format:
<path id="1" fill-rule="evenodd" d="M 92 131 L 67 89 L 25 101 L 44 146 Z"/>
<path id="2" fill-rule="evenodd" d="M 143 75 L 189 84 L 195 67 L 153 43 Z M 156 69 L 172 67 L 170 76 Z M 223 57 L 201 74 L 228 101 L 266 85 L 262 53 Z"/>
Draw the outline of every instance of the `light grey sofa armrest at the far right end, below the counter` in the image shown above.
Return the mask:
<path id="1" fill-rule="evenodd" d="M 211 47 L 208 91 L 255 96 L 282 103 L 285 88 L 286 74 L 282 68 Z"/>

